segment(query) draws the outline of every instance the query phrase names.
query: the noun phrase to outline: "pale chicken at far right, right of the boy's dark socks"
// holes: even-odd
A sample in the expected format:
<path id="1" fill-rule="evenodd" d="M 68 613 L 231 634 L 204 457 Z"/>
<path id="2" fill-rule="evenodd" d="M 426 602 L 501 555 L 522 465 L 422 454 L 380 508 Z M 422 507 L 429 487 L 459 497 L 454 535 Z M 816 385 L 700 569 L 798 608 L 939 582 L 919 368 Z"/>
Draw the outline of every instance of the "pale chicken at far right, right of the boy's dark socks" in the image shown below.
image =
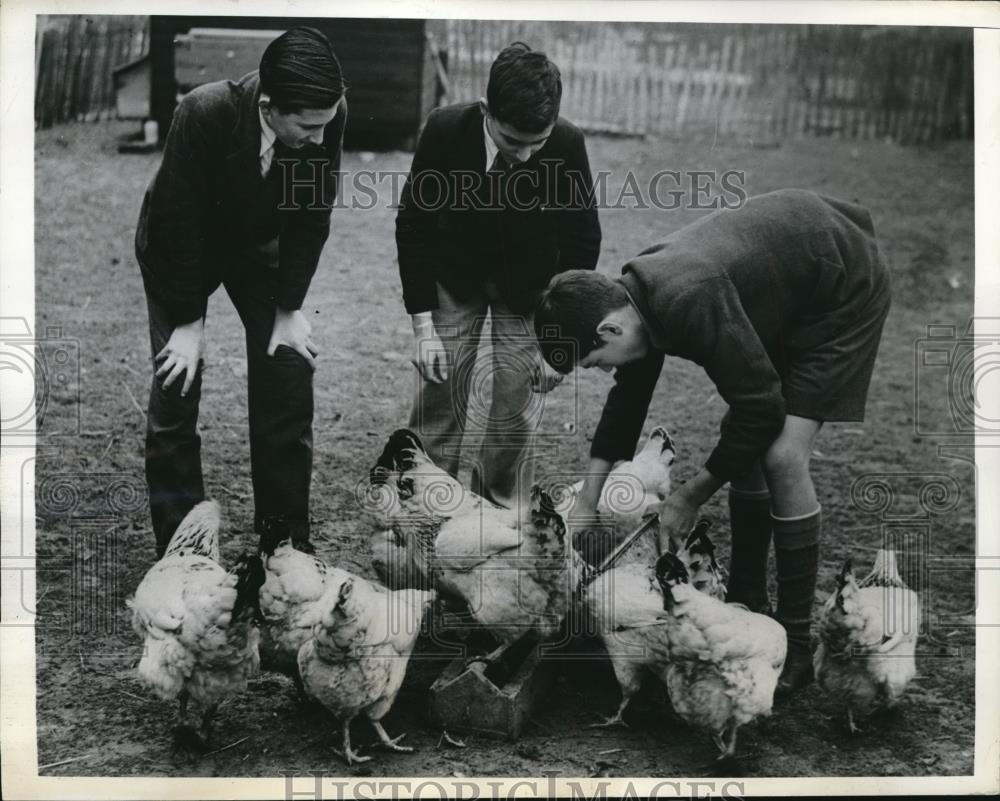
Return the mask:
<path id="1" fill-rule="evenodd" d="M 920 599 L 900 578 L 891 549 L 878 551 L 860 584 L 848 560 L 837 585 L 820 615 L 813 664 L 819 686 L 844 705 L 856 732 L 856 715 L 894 706 L 916 675 Z"/>

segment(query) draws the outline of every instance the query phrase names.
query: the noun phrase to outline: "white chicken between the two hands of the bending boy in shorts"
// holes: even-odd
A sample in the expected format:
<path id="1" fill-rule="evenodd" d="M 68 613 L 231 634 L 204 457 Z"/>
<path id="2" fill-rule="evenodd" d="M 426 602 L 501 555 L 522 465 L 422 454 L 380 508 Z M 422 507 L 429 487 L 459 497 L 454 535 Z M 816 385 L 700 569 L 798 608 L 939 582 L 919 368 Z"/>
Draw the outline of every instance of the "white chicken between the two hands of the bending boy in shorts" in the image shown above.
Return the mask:
<path id="1" fill-rule="evenodd" d="M 576 535 L 576 546 L 592 564 L 604 557 L 628 534 L 642 524 L 643 517 L 656 511 L 670 494 L 670 470 L 676 448 L 667 430 L 657 426 L 646 444 L 629 461 L 621 462 L 608 474 L 597 503 L 598 517 L 604 525 L 583 529 Z M 573 485 L 575 498 L 583 482 Z M 611 536 L 609 536 L 609 533 Z M 623 562 L 651 566 L 656 559 L 653 539 L 645 538 L 622 557 Z"/>

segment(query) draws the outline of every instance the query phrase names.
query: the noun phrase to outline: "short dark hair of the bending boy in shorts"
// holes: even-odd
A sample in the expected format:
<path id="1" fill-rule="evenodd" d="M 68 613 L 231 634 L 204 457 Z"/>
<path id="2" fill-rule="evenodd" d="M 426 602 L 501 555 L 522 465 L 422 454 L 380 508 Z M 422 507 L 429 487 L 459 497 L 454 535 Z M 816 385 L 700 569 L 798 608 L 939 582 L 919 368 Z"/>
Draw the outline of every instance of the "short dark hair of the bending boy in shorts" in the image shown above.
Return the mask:
<path id="1" fill-rule="evenodd" d="M 597 326 L 628 304 L 625 288 L 593 270 L 559 273 L 535 307 L 535 336 L 553 370 L 569 373 L 597 344 Z"/>

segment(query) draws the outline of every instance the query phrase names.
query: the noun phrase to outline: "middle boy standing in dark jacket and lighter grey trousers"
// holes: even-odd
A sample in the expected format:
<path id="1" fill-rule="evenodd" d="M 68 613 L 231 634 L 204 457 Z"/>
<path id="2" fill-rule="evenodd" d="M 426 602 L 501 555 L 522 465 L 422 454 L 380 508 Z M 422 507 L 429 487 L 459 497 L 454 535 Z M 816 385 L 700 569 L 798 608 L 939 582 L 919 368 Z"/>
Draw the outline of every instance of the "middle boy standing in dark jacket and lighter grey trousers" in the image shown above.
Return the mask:
<path id="1" fill-rule="evenodd" d="M 403 301 L 419 385 L 410 418 L 452 475 L 467 422 L 484 434 L 474 491 L 517 504 L 532 481 L 541 360 L 530 315 L 558 272 L 592 270 L 601 229 L 583 134 L 559 117 L 562 83 L 544 53 L 505 48 L 486 98 L 435 110 L 413 156 L 396 217 Z M 476 363 L 487 312 L 492 364 Z M 475 420 L 484 379 L 493 395 Z"/>

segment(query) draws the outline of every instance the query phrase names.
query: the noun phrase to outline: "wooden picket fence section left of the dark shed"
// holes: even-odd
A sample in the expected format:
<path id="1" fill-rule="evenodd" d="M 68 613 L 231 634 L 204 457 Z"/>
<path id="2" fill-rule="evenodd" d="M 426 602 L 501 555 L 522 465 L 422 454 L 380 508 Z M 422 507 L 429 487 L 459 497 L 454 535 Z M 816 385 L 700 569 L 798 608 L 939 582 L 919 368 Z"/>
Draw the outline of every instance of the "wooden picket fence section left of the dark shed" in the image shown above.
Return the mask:
<path id="1" fill-rule="evenodd" d="M 35 124 L 109 119 L 114 67 L 146 54 L 148 16 L 39 15 L 35 30 Z"/>

